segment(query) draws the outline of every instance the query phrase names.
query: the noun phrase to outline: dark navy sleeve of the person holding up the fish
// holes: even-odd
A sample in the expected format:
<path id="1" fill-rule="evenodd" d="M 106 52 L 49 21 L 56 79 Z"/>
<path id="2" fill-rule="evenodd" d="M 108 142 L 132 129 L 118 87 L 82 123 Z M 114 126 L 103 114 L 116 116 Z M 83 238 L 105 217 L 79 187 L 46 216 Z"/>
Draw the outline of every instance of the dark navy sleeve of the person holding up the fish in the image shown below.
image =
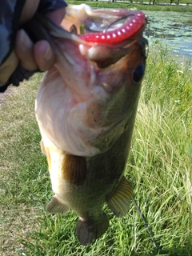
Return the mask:
<path id="1" fill-rule="evenodd" d="M 0 8 L 0 66 L 6 61 L 14 49 L 15 36 L 19 29 L 19 19 L 26 0 L 1 0 Z M 49 10 L 56 10 L 66 7 L 63 0 L 40 0 L 38 11 L 45 13 Z M 34 72 L 25 70 L 19 64 L 6 84 L 0 82 L 0 92 L 6 90 L 10 84 L 18 86 L 19 82 L 29 79 Z"/>

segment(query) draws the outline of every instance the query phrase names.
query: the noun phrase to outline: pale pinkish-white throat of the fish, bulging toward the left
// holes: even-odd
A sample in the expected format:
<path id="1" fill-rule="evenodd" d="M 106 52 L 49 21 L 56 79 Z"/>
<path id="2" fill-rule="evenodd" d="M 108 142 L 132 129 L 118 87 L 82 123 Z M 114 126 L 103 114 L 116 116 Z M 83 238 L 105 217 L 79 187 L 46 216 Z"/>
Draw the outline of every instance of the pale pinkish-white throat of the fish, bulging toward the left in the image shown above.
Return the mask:
<path id="1" fill-rule="evenodd" d="M 98 154 L 99 150 L 89 140 L 97 137 L 101 128 L 91 127 L 86 121 L 89 107 L 97 107 L 91 92 L 93 63 L 80 54 L 75 44 L 66 42 L 60 46 L 66 54 L 43 78 L 36 98 L 35 112 L 41 133 L 69 154 Z M 70 50 L 66 52 L 68 46 Z M 86 139 L 83 134 L 87 134 Z"/>

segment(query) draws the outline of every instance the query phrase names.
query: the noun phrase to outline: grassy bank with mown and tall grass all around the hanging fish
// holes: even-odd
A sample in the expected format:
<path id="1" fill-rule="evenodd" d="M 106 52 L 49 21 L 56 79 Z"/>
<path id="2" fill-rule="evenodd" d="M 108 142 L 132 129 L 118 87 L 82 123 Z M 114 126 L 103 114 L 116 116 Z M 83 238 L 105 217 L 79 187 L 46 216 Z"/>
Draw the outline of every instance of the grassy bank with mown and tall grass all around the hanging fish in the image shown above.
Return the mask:
<path id="1" fill-rule="evenodd" d="M 151 46 L 127 162 L 134 198 L 162 255 L 192 254 L 192 63 Z M 0 255 L 158 255 L 134 204 L 124 218 L 79 244 L 78 216 L 45 211 L 52 195 L 34 118 L 42 74 L 12 88 L 0 106 Z"/>

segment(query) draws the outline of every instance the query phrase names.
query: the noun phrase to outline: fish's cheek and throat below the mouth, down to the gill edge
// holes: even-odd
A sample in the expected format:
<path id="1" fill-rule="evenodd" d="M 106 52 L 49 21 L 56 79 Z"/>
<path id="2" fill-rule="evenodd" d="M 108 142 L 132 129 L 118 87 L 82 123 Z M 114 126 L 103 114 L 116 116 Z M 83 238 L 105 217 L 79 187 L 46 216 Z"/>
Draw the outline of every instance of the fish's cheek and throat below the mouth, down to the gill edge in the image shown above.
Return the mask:
<path id="1" fill-rule="evenodd" d="M 65 54 L 38 90 L 36 116 L 40 130 L 68 154 L 101 154 L 126 129 L 125 122 L 134 119 L 141 81 L 134 82 L 133 75 L 146 61 L 142 42 L 132 44 L 131 49 L 128 47 L 130 53 L 106 68 L 98 67 L 98 59 L 90 60 L 89 50 L 93 52 L 94 46 L 83 46 L 83 54 L 76 43 L 63 42 L 59 47 Z M 105 135 L 106 146 L 98 145 L 102 134 L 109 134 Z"/>

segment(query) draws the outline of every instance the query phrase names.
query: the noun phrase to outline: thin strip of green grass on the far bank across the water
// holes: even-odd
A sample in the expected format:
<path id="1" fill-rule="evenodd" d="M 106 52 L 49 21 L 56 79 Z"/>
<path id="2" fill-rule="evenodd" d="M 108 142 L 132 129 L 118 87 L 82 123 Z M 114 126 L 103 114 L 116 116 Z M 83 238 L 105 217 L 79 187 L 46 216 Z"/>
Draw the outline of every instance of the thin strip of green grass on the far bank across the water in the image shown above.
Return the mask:
<path id="1" fill-rule="evenodd" d="M 147 2 L 147 1 L 143 1 Z M 192 2 L 192 1 L 191 1 Z M 177 12 L 192 12 L 192 6 L 161 6 L 161 5 L 147 5 L 142 4 L 132 4 L 130 2 L 102 2 L 102 1 L 82 1 L 82 0 L 69 0 L 68 4 L 80 5 L 81 3 L 86 3 L 86 5 L 93 8 L 136 8 L 138 10 L 154 10 L 154 11 L 177 11 Z"/>

